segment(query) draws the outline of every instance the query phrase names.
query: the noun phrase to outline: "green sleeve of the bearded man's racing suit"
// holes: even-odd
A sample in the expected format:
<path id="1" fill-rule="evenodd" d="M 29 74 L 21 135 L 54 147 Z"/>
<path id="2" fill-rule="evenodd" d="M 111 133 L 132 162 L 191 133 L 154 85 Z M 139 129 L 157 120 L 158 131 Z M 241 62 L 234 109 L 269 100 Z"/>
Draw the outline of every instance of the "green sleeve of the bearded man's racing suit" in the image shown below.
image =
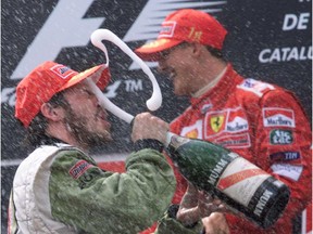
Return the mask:
<path id="1" fill-rule="evenodd" d="M 102 171 L 80 152 L 59 153 L 49 184 L 52 216 L 88 233 L 137 233 L 171 204 L 173 170 L 154 150 L 133 153 L 125 173 Z"/>

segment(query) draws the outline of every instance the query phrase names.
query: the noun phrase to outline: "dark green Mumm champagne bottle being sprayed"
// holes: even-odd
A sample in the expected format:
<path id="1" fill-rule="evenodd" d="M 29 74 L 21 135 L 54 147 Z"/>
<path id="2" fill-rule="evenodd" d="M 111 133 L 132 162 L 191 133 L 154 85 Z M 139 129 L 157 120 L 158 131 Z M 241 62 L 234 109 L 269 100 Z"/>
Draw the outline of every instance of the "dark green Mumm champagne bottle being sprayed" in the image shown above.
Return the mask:
<path id="1" fill-rule="evenodd" d="M 263 229 L 274 224 L 289 188 L 255 165 L 220 145 L 167 133 L 166 151 L 180 173 Z"/>

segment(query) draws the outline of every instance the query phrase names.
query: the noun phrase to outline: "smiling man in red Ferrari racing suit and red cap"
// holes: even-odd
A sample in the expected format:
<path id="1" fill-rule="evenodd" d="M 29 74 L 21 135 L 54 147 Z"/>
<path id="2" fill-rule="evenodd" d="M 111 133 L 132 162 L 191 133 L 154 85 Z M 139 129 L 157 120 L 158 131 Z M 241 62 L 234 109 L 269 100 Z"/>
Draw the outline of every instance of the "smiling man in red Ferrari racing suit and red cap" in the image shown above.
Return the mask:
<path id="1" fill-rule="evenodd" d="M 171 123 L 172 132 L 236 152 L 286 183 L 290 200 L 283 216 L 267 230 L 229 212 L 225 214 L 226 225 L 224 216 L 216 212 L 224 221 L 208 224 L 203 218 L 210 218 L 212 210 L 202 212 L 202 198 L 197 190 L 190 192 L 189 185 L 174 218 L 184 226 L 202 219 L 208 224 L 206 233 L 215 230 L 214 233 L 291 234 L 293 219 L 311 200 L 311 126 L 291 92 L 243 79 L 234 70 L 222 53 L 226 35 L 227 30 L 212 15 L 181 9 L 166 16 L 156 40 L 135 52 L 145 61 L 159 63 L 159 72 L 168 76 L 176 95 L 191 98 L 191 106 Z M 178 203 L 187 187 L 180 179 L 177 176 L 179 187 L 173 199 Z M 180 214 L 187 211 L 187 219 L 183 219 Z"/>

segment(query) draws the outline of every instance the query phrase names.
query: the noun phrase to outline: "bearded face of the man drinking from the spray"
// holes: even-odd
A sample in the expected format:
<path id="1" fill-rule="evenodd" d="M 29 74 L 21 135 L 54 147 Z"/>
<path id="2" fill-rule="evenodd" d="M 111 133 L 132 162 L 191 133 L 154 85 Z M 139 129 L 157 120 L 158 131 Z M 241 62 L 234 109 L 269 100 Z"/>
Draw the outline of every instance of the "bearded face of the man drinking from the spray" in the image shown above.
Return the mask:
<path id="1" fill-rule="evenodd" d="M 108 113 L 98 104 L 88 86 L 78 83 L 64 92 L 70 108 L 64 121 L 80 144 L 98 144 L 112 140 Z"/>

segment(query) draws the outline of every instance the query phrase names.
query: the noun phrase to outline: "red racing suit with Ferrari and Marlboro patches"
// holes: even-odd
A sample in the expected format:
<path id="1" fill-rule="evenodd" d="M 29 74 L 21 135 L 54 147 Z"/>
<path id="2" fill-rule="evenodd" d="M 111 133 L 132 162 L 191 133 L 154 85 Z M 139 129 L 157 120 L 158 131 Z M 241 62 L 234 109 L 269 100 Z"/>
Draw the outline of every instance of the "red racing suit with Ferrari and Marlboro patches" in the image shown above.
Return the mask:
<path id="1" fill-rule="evenodd" d="M 311 127 L 293 94 L 243 79 L 228 64 L 217 84 L 190 101 L 171 123 L 172 132 L 227 147 L 283 181 L 291 192 L 283 217 L 270 229 L 227 213 L 230 232 L 292 233 L 292 219 L 312 194 Z"/>

